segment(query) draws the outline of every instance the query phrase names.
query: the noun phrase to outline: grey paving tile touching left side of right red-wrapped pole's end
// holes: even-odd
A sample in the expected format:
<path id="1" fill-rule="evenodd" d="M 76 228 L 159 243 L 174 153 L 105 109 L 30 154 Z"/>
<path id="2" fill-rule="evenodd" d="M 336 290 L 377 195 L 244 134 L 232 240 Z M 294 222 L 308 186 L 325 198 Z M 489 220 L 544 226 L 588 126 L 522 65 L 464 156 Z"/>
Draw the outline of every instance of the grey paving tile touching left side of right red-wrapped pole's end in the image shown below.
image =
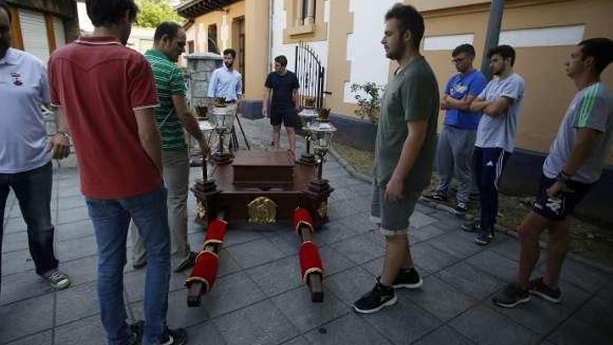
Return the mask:
<path id="1" fill-rule="evenodd" d="M 297 255 L 251 268 L 245 273 L 254 279 L 254 282 L 267 296 L 279 295 L 279 293 L 295 289 L 302 284 Z"/>

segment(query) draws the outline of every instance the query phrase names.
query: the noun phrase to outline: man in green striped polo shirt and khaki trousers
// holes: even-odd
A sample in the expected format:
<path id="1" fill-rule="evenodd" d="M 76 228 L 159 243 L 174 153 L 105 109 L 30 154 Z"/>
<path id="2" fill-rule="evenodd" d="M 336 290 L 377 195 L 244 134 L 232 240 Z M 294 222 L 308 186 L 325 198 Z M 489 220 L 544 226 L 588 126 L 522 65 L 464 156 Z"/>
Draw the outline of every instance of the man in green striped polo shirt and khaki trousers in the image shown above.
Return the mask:
<path id="1" fill-rule="evenodd" d="M 172 253 L 180 262 L 175 272 L 194 265 L 196 254 L 187 241 L 187 191 L 189 185 L 189 158 L 184 131 L 198 141 L 201 151 L 208 155 L 209 148 L 198 122 L 185 102 L 185 76 L 176 66 L 185 52 L 185 31 L 173 22 L 157 26 L 153 49 L 145 53 L 155 77 L 160 107 L 156 109 L 157 128 L 162 133 L 162 164 L 164 185 L 168 189 L 168 213 L 172 238 Z M 146 264 L 146 250 L 138 231 L 132 229 L 132 264 L 141 268 Z"/>

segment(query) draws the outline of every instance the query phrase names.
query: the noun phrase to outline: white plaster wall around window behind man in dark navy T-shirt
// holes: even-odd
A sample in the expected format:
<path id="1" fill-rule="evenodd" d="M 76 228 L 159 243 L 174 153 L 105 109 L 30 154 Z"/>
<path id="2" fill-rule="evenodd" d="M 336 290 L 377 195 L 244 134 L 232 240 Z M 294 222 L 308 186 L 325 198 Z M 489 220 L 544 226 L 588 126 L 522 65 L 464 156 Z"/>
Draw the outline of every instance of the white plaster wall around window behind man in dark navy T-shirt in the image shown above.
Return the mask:
<path id="1" fill-rule="evenodd" d="M 324 6 L 324 22 L 329 22 L 330 6 L 329 2 L 325 1 Z M 281 54 L 288 58 L 288 69 L 294 70 L 295 64 L 295 49 L 296 44 L 284 45 L 283 44 L 283 31 L 286 28 L 286 10 L 284 10 L 284 0 L 273 1 L 273 13 L 272 13 L 272 59 L 275 56 Z M 329 26 L 328 26 L 329 33 Z M 328 66 L 328 41 L 322 40 L 317 42 L 308 42 L 308 45 L 313 47 L 313 50 L 318 55 L 321 64 L 324 68 Z M 268 70 L 272 70 L 272 66 L 268 66 Z"/>

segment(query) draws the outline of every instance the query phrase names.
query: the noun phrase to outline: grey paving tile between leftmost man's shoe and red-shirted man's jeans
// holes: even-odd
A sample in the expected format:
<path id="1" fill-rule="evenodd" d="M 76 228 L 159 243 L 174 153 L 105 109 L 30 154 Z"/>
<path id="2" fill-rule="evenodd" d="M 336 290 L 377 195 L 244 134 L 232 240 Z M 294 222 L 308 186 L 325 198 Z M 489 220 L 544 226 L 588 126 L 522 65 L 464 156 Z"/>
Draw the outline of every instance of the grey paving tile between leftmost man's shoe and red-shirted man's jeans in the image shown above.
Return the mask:
<path id="1" fill-rule="evenodd" d="M 56 325 L 63 325 L 99 313 L 96 282 L 72 286 L 56 293 Z"/>

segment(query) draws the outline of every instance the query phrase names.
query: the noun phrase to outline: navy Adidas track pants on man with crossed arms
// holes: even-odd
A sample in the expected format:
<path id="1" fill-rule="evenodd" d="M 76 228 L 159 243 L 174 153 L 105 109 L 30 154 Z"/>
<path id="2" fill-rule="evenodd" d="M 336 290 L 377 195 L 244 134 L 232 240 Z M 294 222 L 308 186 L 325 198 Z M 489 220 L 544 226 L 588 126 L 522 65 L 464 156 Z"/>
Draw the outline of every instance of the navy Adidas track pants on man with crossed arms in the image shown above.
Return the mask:
<path id="1" fill-rule="evenodd" d="M 498 214 L 498 185 L 511 153 L 502 148 L 474 148 L 474 171 L 481 193 L 481 228 L 492 230 Z"/>

